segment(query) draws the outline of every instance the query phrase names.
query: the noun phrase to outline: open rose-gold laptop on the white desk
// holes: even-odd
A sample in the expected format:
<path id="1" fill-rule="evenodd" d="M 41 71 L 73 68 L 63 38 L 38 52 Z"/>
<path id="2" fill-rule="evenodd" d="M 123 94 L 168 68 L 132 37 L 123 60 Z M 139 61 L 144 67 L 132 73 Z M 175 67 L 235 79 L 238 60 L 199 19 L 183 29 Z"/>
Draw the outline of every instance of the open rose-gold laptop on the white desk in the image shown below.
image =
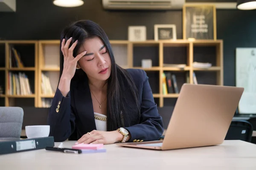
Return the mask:
<path id="1" fill-rule="evenodd" d="M 117 145 L 172 150 L 222 144 L 243 91 L 239 87 L 185 83 L 163 140 Z"/>

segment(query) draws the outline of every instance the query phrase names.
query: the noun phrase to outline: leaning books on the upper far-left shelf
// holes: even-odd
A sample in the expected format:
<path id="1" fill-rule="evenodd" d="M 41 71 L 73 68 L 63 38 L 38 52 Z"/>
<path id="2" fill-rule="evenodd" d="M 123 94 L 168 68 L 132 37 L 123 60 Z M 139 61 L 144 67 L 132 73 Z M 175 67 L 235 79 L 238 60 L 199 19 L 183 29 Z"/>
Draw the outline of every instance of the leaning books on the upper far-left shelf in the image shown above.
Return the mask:
<path id="1" fill-rule="evenodd" d="M 10 56 L 9 56 L 9 67 L 15 67 L 15 68 L 23 68 L 23 62 L 20 59 L 20 53 L 14 48 L 10 47 Z"/>

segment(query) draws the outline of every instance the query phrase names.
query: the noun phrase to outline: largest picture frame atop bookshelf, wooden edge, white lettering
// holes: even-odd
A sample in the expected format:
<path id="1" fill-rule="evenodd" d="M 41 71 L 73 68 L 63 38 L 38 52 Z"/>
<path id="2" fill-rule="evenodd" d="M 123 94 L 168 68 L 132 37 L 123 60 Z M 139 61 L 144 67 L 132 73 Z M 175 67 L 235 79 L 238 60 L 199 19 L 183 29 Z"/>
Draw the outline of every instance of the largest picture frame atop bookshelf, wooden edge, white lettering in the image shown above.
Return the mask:
<path id="1" fill-rule="evenodd" d="M 183 39 L 217 39 L 215 5 L 183 5 Z"/>

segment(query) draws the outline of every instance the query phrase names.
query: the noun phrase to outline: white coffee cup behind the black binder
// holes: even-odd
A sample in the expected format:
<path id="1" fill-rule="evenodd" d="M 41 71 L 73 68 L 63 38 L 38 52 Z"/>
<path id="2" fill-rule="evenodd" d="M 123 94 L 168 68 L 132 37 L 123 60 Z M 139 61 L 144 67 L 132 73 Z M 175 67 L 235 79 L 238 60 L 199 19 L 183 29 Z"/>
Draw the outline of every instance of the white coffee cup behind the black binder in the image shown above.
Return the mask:
<path id="1" fill-rule="evenodd" d="M 50 133 L 49 125 L 33 125 L 25 126 L 27 138 L 42 138 L 48 137 Z"/>

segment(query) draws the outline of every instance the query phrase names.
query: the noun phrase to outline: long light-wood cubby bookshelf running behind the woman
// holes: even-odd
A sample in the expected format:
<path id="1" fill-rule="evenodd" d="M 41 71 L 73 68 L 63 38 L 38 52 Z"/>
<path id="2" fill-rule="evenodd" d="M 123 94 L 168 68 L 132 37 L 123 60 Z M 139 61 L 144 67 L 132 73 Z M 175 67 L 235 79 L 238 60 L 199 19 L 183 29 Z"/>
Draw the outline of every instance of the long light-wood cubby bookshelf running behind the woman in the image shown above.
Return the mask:
<path id="1" fill-rule="evenodd" d="M 145 70 L 155 102 L 160 107 L 175 105 L 179 96 L 174 89 L 171 93 L 169 90 L 164 92 L 163 73 L 175 75 L 178 91 L 183 83 L 194 83 L 194 73 L 198 84 L 223 85 L 222 40 L 110 40 L 110 43 L 118 65 Z M 26 67 L 9 67 L 10 45 L 13 44 L 23 54 L 21 59 Z M 0 86 L 4 91 L 4 94 L 0 94 L 0 105 L 16 106 L 18 102 L 23 102 L 23 105 L 49 107 L 58 85 L 60 41 L 0 41 L 0 56 L 5 56 L 5 59 L 0 57 Z M 142 59 L 151 59 L 152 67 L 142 68 Z M 195 68 L 193 62 L 209 62 L 212 66 Z M 184 64 L 184 67 L 177 67 Z M 33 93 L 10 95 L 6 88 L 9 72 L 25 72 Z"/>

